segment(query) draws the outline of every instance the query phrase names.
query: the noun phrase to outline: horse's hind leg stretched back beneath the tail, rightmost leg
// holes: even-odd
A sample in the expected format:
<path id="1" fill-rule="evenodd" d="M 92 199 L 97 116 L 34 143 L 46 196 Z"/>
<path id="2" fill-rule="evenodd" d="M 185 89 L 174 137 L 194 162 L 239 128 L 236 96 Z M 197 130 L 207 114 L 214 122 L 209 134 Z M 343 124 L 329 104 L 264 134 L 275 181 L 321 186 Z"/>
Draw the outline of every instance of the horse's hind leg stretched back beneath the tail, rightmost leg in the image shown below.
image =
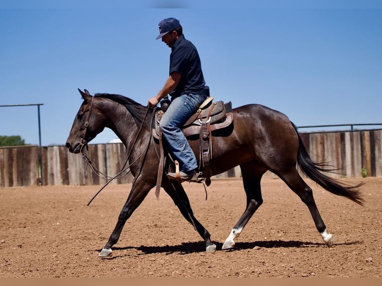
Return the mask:
<path id="1" fill-rule="evenodd" d="M 305 183 L 295 168 L 280 178 L 300 197 L 307 205 L 317 230 L 320 232 L 322 239 L 328 247 L 333 246 L 333 235 L 328 234 L 324 221 L 317 209 L 316 202 L 313 198 L 312 189 Z"/>

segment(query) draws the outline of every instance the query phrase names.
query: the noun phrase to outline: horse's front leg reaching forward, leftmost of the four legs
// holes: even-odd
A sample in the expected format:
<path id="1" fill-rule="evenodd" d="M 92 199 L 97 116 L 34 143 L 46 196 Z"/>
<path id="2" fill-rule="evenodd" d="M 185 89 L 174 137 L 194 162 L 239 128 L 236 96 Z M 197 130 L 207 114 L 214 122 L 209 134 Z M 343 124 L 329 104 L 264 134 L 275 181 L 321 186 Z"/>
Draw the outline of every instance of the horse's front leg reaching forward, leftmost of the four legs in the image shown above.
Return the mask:
<path id="1" fill-rule="evenodd" d="M 126 221 L 130 218 L 133 212 L 145 199 L 149 191 L 153 188 L 153 185 L 144 182 L 142 179 L 137 179 L 133 183 L 133 187 L 130 191 L 130 195 L 127 198 L 125 205 L 123 206 L 121 213 L 118 217 L 117 225 L 115 226 L 109 241 L 99 253 L 99 257 L 107 257 L 112 254 L 112 247 L 115 245 L 121 235 L 122 229 L 125 226 Z"/>

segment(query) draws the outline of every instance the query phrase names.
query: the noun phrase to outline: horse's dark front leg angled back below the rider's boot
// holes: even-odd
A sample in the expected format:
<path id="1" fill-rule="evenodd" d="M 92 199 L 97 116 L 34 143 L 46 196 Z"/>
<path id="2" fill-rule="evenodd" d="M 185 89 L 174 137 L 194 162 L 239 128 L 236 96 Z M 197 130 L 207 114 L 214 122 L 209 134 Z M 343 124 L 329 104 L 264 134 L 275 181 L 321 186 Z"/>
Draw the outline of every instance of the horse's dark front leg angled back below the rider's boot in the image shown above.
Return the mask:
<path id="1" fill-rule="evenodd" d="M 173 199 L 176 206 L 178 206 L 182 215 L 190 222 L 199 235 L 204 239 L 205 251 L 214 252 L 216 245 L 211 242 L 209 232 L 201 225 L 201 223 L 193 216 L 190 205 L 190 200 L 182 186 L 182 184 L 170 181 L 167 177 L 163 178 L 162 186 L 165 191 Z"/>

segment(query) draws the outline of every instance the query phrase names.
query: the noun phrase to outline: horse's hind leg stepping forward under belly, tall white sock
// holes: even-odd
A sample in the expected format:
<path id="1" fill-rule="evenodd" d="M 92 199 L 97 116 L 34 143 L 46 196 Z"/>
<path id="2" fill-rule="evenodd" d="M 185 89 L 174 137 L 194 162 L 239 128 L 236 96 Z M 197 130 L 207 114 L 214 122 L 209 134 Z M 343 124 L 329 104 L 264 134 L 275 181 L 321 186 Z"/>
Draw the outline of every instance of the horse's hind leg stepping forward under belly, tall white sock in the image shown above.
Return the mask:
<path id="1" fill-rule="evenodd" d="M 234 240 L 239 237 L 249 219 L 263 203 L 260 180 L 266 170 L 258 169 L 254 163 L 240 165 L 240 168 L 243 177 L 244 190 L 247 196 L 246 208 L 239 221 L 232 228 L 228 238 L 225 240 L 221 248 L 223 250 L 230 249 L 235 246 Z"/>

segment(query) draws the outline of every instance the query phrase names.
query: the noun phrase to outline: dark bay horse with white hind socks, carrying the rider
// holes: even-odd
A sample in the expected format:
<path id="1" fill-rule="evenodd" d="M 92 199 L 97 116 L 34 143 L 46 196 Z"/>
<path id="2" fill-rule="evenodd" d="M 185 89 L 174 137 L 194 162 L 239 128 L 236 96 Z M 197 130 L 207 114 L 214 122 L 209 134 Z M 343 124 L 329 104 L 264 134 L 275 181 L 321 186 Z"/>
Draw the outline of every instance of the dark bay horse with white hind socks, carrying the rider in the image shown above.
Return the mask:
<path id="1" fill-rule="evenodd" d="M 147 107 L 121 95 L 96 94 L 79 90 L 83 103 L 74 119 L 66 142 L 70 152 L 79 153 L 81 148 L 94 139 L 105 127 L 110 128 L 130 152 L 129 162 L 134 181 L 117 224 L 100 257 L 110 256 L 112 247 L 118 242 L 122 229 L 129 217 L 142 203 L 151 189 L 156 186 L 159 157 L 158 144 L 151 135 L 151 119 Z M 362 205 L 359 187 L 345 185 L 325 175 L 327 164 L 313 162 L 297 132 L 296 127 L 282 113 L 262 105 L 250 104 L 233 109 L 233 124 L 212 138 L 212 175 L 240 166 L 246 208 L 232 228 L 222 249 L 235 245 L 235 238 L 242 232 L 254 212 L 263 203 L 260 180 L 271 171 L 278 175 L 308 207 L 317 230 L 328 247 L 333 245 L 333 236 L 327 232 L 313 198 L 312 189 L 304 182 L 296 169 L 296 163 L 313 181 L 329 192 L 344 196 Z M 137 137 L 137 135 L 139 136 Z M 198 158 L 198 139 L 189 141 Z M 200 162 L 199 162 L 200 163 Z M 163 175 L 163 189 L 174 200 L 179 210 L 204 239 L 206 251 L 216 249 L 209 232 L 194 217 L 190 201 L 181 183 Z"/>

